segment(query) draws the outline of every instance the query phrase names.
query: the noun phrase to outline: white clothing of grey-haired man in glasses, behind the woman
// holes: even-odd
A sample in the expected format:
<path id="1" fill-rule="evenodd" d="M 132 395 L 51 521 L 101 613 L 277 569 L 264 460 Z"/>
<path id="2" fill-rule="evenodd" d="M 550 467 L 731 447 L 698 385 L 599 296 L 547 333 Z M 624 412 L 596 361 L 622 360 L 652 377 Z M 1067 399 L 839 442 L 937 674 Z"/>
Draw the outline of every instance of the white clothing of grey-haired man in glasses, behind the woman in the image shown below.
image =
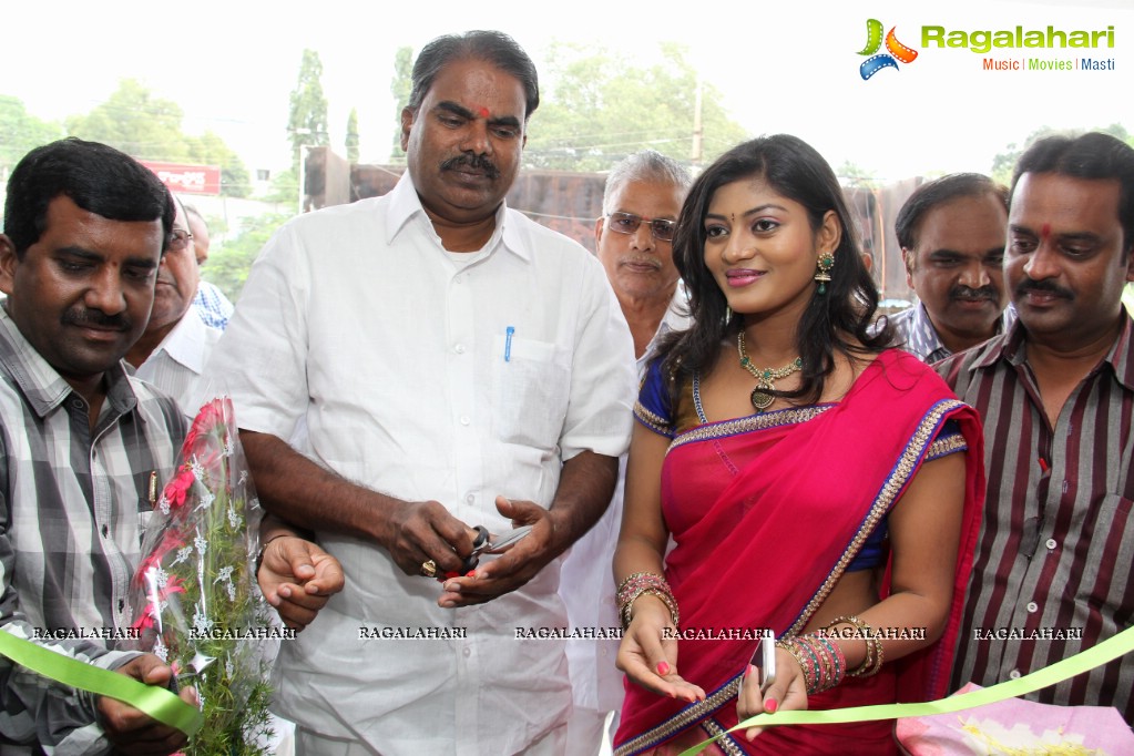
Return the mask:
<path id="1" fill-rule="evenodd" d="M 637 379 L 641 383 L 645 368 L 653 359 L 658 345 L 670 331 L 689 328 L 685 314 L 687 295 L 678 286 L 669 301 L 657 333 L 637 359 Z M 559 595 L 567 606 L 567 618 L 573 628 L 617 628 L 621 621 L 615 606 L 615 576 L 612 562 L 623 523 L 623 495 L 626 485 L 626 455 L 618 461 L 618 487 L 610 508 L 590 533 L 572 546 L 564 560 Z M 572 694 L 575 706 L 586 710 L 581 716 L 601 716 L 623 707 L 623 673 L 615 666 L 618 655 L 617 639 L 572 638 L 567 642 L 567 661 L 570 664 Z M 617 717 L 616 717 L 617 719 Z M 574 745 L 574 744 L 573 744 Z M 594 744 L 595 749 L 599 741 Z"/>

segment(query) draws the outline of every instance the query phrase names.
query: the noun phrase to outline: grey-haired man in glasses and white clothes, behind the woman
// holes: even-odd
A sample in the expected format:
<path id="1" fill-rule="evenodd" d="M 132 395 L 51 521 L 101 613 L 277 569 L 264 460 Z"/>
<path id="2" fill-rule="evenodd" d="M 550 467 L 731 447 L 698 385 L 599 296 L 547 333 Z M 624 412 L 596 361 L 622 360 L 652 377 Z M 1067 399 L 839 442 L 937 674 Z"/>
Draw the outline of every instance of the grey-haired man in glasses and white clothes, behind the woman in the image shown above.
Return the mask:
<path id="1" fill-rule="evenodd" d="M 653 150 L 631 155 L 607 176 L 594 241 L 634 338 L 640 381 L 661 339 L 688 328 L 685 292 L 670 243 L 692 184 L 685 168 Z M 615 668 L 618 638 L 601 637 L 619 627 L 611 562 L 623 517 L 625 455 L 619 462 L 610 508 L 572 546 L 559 584 L 569 625 L 578 636 L 567 642 L 575 700 L 568 731 L 567 753 L 572 756 L 599 753 L 607 717 L 623 703 L 623 673 Z M 596 630 L 589 632 L 589 628 Z M 616 715 L 609 725 L 611 733 L 617 724 Z"/>

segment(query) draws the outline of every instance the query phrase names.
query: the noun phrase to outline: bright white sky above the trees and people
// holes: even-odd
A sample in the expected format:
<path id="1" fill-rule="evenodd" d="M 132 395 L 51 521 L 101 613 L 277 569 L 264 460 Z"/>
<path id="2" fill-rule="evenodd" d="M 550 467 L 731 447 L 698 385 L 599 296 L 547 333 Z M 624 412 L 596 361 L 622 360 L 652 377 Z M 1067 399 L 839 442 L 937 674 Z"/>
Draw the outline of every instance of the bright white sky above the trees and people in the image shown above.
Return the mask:
<path id="1" fill-rule="evenodd" d="M 882 179 L 988 172 L 996 153 L 1041 126 L 1122 122 L 1134 131 L 1134 0 L 6 5 L 0 94 L 19 97 L 40 118 L 62 119 L 103 102 L 120 78 L 137 78 L 184 109 L 185 131 L 218 133 L 249 169 L 289 162 L 288 96 L 305 48 L 323 63 L 332 147 L 344 152 L 347 116 L 357 108 L 361 158 L 384 162 L 398 108 L 390 95 L 395 51 L 416 52 L 439 34 L 468 28 L 511 34 L 538 67 L 552 41 L 596 42 L 642 62 L 659 54 L 660 41 L 680 42 L 751 135 L 795 134 L 832 165 L 850 161 Z M 863 80 L 865 58 L 857 53 L 869 18 L 892 27 L 917 57 Z M 979 54 L 922 39 L 925 26 L 972 33 L 1049 25 L 1112 26 L 1114 46 Z M 1083 57 L 1110 60 L 1112 69 L 983 69 L 985 58 L 1074 63 Z M 531 124 L 538 128 L 539 112 Z"/>

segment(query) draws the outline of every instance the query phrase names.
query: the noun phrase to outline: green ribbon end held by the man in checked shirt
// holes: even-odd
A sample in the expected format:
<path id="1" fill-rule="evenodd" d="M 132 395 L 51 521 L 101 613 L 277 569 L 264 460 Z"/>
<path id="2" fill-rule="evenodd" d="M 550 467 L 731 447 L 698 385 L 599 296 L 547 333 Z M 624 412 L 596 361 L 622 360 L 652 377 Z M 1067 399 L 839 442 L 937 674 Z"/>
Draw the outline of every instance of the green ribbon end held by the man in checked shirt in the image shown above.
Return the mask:
<path id="1" fill-rule="evenodd" d="M 0 630 L 0 655 L 65 686 L 129 704 L 188 737 L 193 737 L 204 723 L 196 706 L 185 703 L 166 688 L 145 685 L 125 674 L 65 656 L 5 630 Z"/>

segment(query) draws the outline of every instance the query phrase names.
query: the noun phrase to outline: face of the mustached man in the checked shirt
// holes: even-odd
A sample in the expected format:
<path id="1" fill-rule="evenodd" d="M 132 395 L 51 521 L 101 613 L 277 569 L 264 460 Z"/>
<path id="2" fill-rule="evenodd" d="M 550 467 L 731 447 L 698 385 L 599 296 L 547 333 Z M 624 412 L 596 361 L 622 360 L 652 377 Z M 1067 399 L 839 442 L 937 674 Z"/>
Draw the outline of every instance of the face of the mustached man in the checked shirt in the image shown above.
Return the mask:
<path id="1" fill-rule="evenodd" d="M 60 195 L 20 260 L 0 236 L 0 290 L 24 338 L 81 392 L 142 335 L 161 260 L 161 220 L 113 221 Z"/>

